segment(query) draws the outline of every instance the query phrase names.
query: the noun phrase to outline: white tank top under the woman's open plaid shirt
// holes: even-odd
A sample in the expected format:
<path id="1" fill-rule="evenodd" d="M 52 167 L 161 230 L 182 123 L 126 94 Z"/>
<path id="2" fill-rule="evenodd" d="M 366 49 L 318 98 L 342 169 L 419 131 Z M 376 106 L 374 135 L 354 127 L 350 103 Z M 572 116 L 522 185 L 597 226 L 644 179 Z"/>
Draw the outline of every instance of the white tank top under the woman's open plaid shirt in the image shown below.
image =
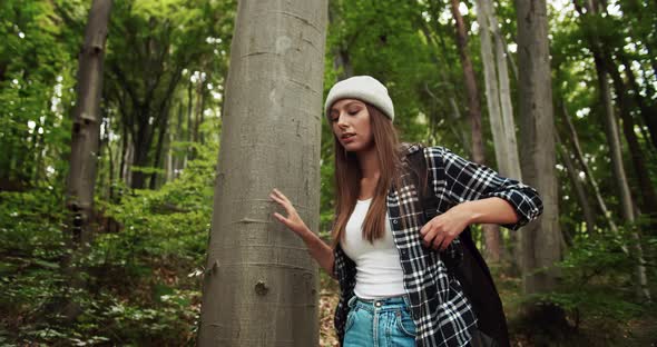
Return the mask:
<path id="1" fill-rule="evenodd" d="M 356 264 L 354 294 L 363 299 L 400 296 L 405 294 L 403 272 L 388 214 L 383 238 L 374 244 L 363 239 L 363 224 L 371 202 L 372 199 L 356 201 L 341 242 L 344 252 Z"/>

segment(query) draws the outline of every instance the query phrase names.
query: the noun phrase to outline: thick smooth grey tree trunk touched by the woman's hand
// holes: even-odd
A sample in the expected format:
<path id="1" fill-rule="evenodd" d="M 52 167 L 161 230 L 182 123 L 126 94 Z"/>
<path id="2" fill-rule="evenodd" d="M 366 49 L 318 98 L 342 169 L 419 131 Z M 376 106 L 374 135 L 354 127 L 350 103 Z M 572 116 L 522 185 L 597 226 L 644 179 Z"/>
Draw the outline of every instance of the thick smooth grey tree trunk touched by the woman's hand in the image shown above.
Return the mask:
<path id="1" fill-rule="evenodd" d="M 317 230 L 327 2 L 241 1 L 231 49 L 200 346 L 316 346 L 317 266 L 271 217 Z"/>

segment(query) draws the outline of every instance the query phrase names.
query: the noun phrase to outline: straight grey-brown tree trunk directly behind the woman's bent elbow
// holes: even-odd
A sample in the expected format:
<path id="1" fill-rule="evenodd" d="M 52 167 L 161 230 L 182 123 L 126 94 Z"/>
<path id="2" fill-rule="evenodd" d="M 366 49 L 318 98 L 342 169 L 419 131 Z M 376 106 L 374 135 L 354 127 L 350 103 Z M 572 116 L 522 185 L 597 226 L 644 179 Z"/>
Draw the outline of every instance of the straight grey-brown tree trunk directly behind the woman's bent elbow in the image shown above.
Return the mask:
<path id="1" fill-rule="evenodd" d="M 523 180 L 536 187 L 543 215 L 520 234 L 522 279 L 526 293 L 556 287 L 556 262 L 563 254 L 559 230 L 555 172 L 555 119 L 548 47 L 546 0 L 516 0 L 518 21 L 518 112 L 521 116 Z"/>

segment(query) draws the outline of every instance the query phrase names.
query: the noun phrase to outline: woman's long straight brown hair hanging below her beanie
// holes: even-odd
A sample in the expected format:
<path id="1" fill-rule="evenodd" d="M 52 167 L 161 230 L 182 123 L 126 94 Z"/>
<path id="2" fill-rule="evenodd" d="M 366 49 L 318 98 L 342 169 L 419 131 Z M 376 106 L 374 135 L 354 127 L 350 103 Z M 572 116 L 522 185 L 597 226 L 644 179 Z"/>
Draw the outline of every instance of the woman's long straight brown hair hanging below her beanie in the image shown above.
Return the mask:
<path id="1" fill-rule="evenodd" d="M 370 113 L 370 126 L 381 169 L 379 182 L 374 188 L 374 197 L 363 224 L 363 238 L 373 242 L 375 239 L 383 237 L 385 232 L 385 222 L 388 221 L 385 218 L 388 211 L 385 200 L 392 182 L 399 181 L 401 153 L 398 133 L 390 118 L 383 116 L 375 107 L 369 103 L 365 103 L 365 106 Z M 362 172 L 356 155 L 345 151 L 335 136 L 334 143 L 336 218 L 332 237 L 333 246 L 336 246 L 344 237 L 346 222 L 356 205 Z"/>

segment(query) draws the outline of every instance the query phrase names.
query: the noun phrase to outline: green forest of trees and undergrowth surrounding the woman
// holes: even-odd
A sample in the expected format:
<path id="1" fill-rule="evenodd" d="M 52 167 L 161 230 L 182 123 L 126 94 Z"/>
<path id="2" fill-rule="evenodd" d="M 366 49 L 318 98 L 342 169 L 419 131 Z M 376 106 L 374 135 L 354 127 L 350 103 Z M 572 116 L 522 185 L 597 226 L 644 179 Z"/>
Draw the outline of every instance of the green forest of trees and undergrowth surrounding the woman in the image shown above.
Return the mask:
<path id="1" fill-rule="evenodd" d="M 322 105 L 359 75 L 402 141 L 540 192 L 472 234 L 512 346 L 657 344 L 657 1 L 1 0 L 0 37 L 2 346 L 337 346 L 263 199 L 331 242 Z M 307 309 L 231 315 L 263 297 Z"/>

